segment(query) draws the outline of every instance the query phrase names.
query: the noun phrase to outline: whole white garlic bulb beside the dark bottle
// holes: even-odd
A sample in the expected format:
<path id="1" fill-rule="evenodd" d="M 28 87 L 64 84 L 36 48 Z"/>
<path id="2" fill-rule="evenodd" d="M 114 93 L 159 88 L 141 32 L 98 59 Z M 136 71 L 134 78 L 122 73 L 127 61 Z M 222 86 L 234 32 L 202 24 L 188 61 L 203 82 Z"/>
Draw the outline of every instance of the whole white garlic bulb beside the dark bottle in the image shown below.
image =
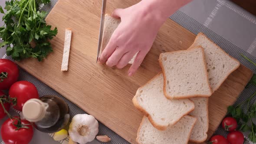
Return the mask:
<path id="1" fill-rule="evenodd" d="M 87 114 L 75 115 L 69 125 L 69 137 L 79 144 L 93 141 L 98 134 L 98 121 Z"/>

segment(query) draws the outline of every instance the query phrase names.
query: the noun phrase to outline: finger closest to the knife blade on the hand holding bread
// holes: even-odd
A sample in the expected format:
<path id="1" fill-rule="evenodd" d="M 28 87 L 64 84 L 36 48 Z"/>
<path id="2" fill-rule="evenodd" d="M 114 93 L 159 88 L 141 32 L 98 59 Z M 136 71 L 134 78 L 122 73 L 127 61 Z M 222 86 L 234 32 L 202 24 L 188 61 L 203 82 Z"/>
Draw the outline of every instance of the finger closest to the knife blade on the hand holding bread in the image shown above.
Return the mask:
<path id="1" fill-rule="evenodd" d="M 105 47 L 105 49 L 103 50 L 102 54 L 98 59 L 100 63 L 105 63 L 108 60 L 108 58 L 112 55 L 112 53 L 115 51 L 117 46 L 115 45 L 114 41 L 115 39 L 111 37 L 107 46 Z"/>

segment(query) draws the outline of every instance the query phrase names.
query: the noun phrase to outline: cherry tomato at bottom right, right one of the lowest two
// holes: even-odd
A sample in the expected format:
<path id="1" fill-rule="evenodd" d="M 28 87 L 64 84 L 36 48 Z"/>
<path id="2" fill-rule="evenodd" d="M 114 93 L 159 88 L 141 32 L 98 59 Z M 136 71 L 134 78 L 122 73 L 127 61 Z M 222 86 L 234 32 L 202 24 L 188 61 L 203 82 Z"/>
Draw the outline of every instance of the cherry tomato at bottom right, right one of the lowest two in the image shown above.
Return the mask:
<path id="1" fill-rule="evenodd" d="M 232 131 L 227 135 L 227 140 L 230 144 L 243 144 L 243 133 L 240 131 Z"/>

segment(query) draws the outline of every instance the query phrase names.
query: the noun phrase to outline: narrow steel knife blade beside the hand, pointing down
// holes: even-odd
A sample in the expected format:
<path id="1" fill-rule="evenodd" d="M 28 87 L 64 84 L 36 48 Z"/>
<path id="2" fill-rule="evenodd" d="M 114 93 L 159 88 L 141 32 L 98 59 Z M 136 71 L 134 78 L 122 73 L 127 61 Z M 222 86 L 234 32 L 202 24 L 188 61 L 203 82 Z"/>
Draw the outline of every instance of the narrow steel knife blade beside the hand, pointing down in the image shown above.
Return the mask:
<path id="1" fill-rule="evenodd" d="M 96 63 L 98 62 L 98 57 L 99 57 L 99 53 L 100 53 L 101 45 L 102 45 L 102 35 L 103 35 L 104 20 L 105 20 L 106 1 L 107 0 L 102 0 L 102 13 L 101 13 L 99 35 L 98 35 L 98 52 L 97 52 Z"/>

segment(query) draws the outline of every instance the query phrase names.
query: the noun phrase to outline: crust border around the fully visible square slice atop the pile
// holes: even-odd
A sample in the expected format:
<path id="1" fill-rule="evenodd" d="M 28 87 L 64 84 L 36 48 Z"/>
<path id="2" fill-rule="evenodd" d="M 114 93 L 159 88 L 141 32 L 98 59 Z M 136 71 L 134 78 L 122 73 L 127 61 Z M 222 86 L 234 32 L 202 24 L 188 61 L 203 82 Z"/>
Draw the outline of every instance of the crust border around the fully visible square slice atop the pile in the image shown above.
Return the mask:
<path id="1" fill-rule="evenodd" d="M 201 46 L 196 46 L 192 49 L 188 49 L 188 51 L 191 51 L 193 49 L 198 49 L 198 48 L 200 48 L 202 50 L 202 52 L 204 53 L 204 50 Z M 165 52 L 165 53 L 174 53 L 174 52 L 180 52 L 180 51 L 187 51 L 187 50 L 178 50 L 178 51 Z M 166 92 L 166 87 L 167 87 L 166 83 L 167 83 L 167 81 L 166 81 L 165 70 L 164 70 L 164 66 L 163 66 L 162 61 L 161 61 L 162 55 L 163 54 L 161 53 L 160 56 L 159 56 L 158 61 L 159 61 L 160 67 L 161 67 L 161 69 L 163 71 L 163 75 L 164 75 L 164 95 L 165 95 L 166 98 L 168 98 L 168 99 L 187 99 L 187 98 L 194 98 L 194 97 L 198 97 L 198 96 L 200 96 L 200 97 L 210 97 L 213 94 L 213 90 L 211 89 L 210 83 L 209 83 L 206 60 L 205 60 L 205 56 L 203 54 L 203 61 L 204 61 L 204 69 L 203 70 L 204 70 L 205 75 L 207 76 L 207 83 L 208 83 L 208 88 L 210 89 L 210 95 L 188 95 L 188 96 L 185 96 L 185 97 L 175 97 L 175 96 L 172 97 L 172 96 L 168 95 L 167 92 Z"/>

